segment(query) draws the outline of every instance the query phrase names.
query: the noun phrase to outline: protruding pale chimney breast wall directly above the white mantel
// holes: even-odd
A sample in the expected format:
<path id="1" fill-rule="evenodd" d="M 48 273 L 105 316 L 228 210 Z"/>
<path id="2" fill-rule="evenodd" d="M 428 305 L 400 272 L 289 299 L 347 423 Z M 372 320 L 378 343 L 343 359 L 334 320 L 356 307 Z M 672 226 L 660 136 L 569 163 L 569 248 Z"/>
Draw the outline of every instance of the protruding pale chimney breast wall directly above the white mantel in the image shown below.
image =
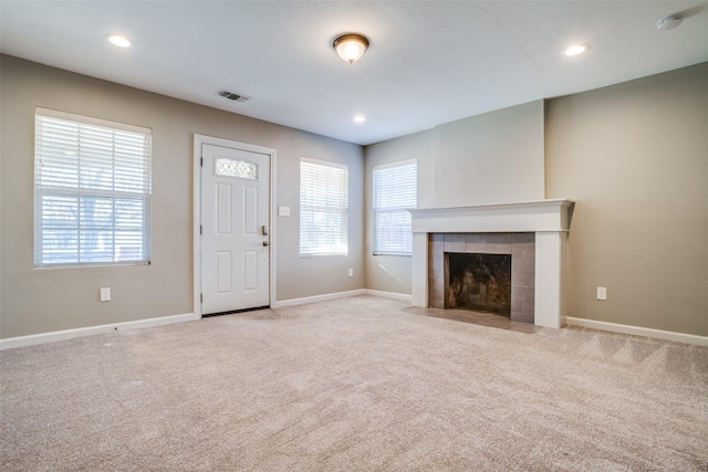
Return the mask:
<path id="1" fill-rule="evenodd" d="M 421 208 L 543 199 L 543 102 L 436 126 Z"/>

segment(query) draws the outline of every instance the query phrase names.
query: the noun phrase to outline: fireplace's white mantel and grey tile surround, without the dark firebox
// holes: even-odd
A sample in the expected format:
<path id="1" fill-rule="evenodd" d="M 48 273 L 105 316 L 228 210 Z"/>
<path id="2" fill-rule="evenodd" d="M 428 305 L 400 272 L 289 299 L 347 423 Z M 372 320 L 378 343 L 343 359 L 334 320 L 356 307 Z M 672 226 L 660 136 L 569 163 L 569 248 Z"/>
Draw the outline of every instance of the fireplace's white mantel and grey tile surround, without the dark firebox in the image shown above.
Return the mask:
<path id="1" fill-rule="evenodd" d="M 532 316 L 535 325 L 561 327 L 565 324 L 563 268 L 573 207 L 574 202 L 562 198 L 410 210 L 413 305 L 442 307 L 445 252 L 512 254 L 512 319 L 531 322 Z"/>

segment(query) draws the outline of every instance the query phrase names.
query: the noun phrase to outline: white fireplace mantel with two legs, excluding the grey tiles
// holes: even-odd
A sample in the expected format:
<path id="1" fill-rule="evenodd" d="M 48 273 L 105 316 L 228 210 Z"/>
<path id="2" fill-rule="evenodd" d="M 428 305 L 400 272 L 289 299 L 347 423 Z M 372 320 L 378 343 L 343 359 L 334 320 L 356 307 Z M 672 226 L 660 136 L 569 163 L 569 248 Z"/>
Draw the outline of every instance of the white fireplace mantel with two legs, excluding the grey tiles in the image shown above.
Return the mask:
<path id="1" fill-rule="evenodd" d="M 565 323 L 563 268 L 574 202 L 565 198 L 477 207 L 409 210 L 414 306 L 428 306 L 428 233 L 535 233 L 534 324 Z"/>

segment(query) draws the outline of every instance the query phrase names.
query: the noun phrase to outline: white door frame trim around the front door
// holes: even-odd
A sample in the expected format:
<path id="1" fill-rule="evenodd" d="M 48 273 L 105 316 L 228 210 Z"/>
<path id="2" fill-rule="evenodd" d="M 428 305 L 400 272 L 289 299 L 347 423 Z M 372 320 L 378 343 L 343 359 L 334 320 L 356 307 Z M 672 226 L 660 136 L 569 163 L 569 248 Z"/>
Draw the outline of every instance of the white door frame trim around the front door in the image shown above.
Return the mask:
<path id="1" fill-rule="evenodd" d="M 269 177 L 269 196 L 268 196 L 268 225 L 270 228 L 270 255 L 268 266 L 268 303 L 273 306 L 275 292 L 275 248 L 278 241 L 278 232 L 275 228 L 275 218 L 273 213 L 275 202 L 275 149 L 258 146 L 248 143 L 235 141 L 231 139 L 222 139 L 214 136 L 194 135 L 194 185 L 192 185 L 192 254 L 194 254 L 194 314 L 195 318 L 201 318 L 201 145 L 214 145 L 221 147 L 231 147 L 242 149 L 250 153 L 268 155 L 270 158 L 270 177 Z"/>

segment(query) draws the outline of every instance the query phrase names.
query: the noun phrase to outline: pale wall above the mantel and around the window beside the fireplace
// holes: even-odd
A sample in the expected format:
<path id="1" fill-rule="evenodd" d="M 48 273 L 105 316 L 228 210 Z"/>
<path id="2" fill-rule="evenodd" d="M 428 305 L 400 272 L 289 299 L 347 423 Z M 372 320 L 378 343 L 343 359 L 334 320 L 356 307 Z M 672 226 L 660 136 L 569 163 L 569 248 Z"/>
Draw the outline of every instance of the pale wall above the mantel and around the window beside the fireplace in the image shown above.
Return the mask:
<path id="1" fill-rule="evenodd" d="M 366 286 L 410 294 L 410 256 L 373 255 L 372 168 L 418 164 L 418 208 L 543 199 L 543 102 L 472 116 L 367 146 Z"/>

